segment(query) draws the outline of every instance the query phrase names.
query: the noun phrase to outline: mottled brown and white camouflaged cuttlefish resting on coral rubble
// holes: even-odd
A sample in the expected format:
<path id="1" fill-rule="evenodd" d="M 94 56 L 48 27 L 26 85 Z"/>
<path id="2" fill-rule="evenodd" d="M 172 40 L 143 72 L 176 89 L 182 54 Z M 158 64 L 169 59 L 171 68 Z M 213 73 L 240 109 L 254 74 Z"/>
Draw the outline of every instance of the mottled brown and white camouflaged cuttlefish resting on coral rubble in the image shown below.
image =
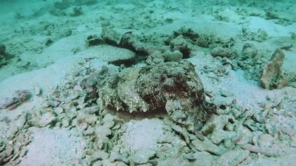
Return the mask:
<path id="1" fill-rule="evenodd" d="M 99 102 L 116 110 L 146 112 L 164 107 L 181 124 L 204 122 L 216 111 L 205 101 L 203 84 L 188 61 L 129 67 L 98 83 Z"/>

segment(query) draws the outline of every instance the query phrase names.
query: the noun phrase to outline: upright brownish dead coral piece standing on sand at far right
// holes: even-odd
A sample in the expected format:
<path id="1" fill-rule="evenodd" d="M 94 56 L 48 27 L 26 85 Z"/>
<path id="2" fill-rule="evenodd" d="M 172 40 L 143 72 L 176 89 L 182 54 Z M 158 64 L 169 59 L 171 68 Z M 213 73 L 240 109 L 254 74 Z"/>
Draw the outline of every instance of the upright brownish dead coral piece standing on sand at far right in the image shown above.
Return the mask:
<path id="1" fill-rule="evenodd" d="M 280 67 L 283 64 L 284 57 L 283 51 L 277 49 L 273 53 L 270 61 L 263 67 L 260 76 L 260 83 L 263 88 L 274 89 L 277 87 L 281 76 Z"/>

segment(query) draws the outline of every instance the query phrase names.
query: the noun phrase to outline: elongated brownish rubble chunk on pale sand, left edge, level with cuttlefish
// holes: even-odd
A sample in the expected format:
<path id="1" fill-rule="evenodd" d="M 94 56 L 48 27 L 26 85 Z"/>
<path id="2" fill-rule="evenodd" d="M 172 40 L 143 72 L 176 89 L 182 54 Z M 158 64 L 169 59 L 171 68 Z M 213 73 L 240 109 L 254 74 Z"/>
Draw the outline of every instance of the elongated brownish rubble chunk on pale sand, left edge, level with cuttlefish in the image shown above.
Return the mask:
<path id="1" fill-rule="evenodd" d="M 29 90 L 17 90 L 14 92 L 12 98 L 5 98 L 0 100 L 0 109 L 13 110 L 17 108 L 21 103 L 28 100 L 31 96 Z"/>

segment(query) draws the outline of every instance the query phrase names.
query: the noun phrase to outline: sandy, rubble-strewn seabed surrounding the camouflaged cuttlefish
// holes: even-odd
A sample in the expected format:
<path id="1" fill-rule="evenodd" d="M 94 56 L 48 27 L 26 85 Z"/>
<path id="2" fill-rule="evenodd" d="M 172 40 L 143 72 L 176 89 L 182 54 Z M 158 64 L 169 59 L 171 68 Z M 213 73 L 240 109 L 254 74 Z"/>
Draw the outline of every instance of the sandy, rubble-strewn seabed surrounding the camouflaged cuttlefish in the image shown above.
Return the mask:
<path id="1" fill-rule="evenodd" d="M 0 8 L 0 165 L 295 165 L 293 0 Z M 199 130 L 165 108 L 130 114 L 98 102 L 103 77 L 169 61 L 189 61 L 217 106 Z"/>

